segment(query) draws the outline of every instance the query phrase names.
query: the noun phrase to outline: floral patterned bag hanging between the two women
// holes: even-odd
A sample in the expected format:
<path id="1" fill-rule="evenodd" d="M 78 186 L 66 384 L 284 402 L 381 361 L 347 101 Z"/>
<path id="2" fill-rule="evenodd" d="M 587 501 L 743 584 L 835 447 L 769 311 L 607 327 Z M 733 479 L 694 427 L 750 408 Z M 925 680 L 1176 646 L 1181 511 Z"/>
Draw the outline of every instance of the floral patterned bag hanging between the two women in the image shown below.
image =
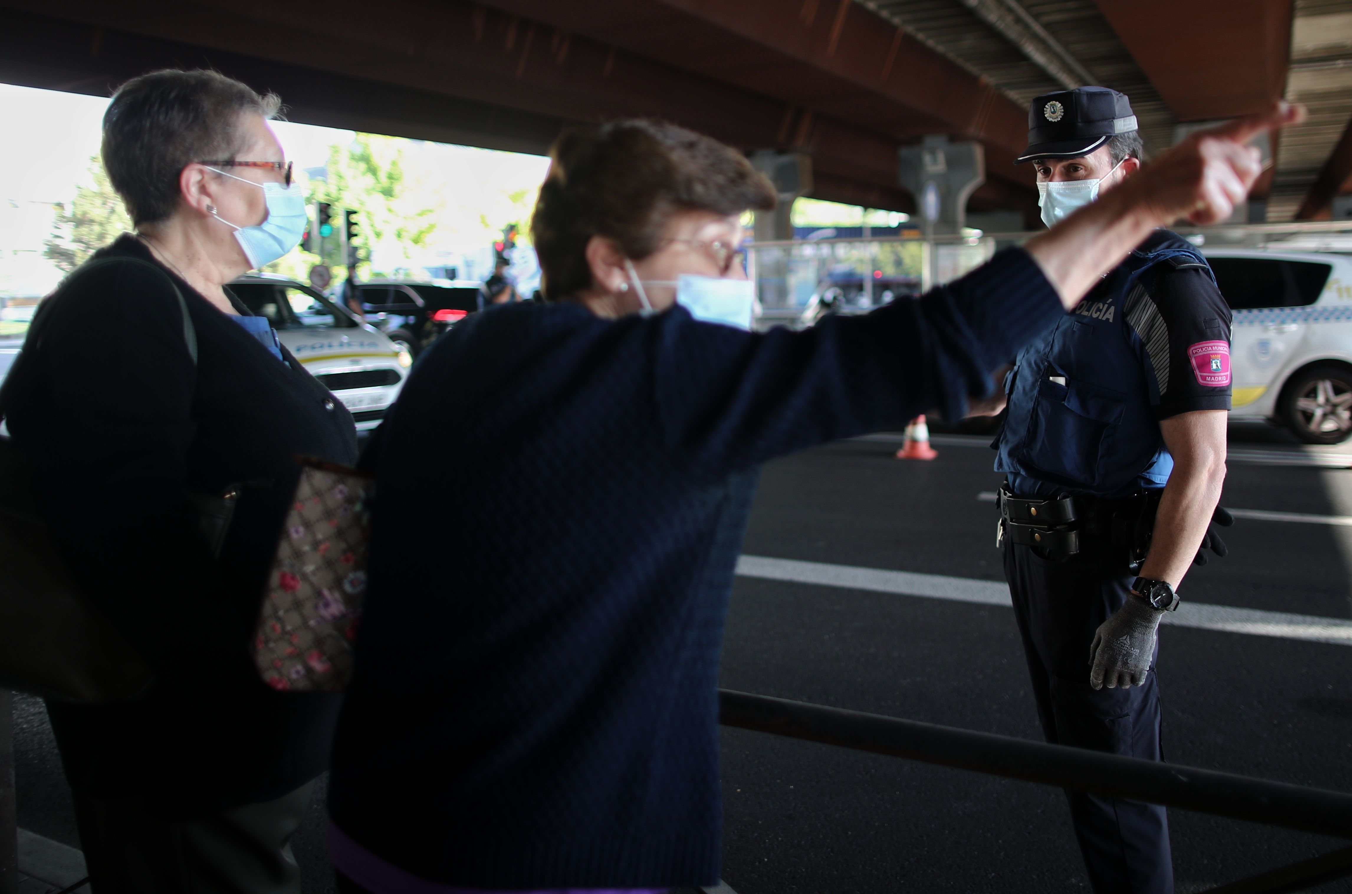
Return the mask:
<path id="1" fill-rule="evenodd" d="M 341 691 L 352 679 L 375 483 L 356 469 L 301 458 L 254 636 L 254 664 L 273 689 Z"/>

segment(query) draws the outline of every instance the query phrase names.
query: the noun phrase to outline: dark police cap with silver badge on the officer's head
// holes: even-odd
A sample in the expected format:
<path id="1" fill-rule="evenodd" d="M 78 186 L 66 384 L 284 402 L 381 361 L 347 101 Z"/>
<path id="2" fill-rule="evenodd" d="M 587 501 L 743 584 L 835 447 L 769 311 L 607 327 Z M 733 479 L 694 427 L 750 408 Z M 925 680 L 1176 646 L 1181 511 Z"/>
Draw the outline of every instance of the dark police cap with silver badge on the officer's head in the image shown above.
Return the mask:
<path id="1" fill-rule="evenodd" d="M 1136 130 L 1125 93 L 1106 86 L 1078 86 L 1044 93 L 1028 109 L 1028 150 L 1014 159 L 1080 158 L 1118 134 Z"/>

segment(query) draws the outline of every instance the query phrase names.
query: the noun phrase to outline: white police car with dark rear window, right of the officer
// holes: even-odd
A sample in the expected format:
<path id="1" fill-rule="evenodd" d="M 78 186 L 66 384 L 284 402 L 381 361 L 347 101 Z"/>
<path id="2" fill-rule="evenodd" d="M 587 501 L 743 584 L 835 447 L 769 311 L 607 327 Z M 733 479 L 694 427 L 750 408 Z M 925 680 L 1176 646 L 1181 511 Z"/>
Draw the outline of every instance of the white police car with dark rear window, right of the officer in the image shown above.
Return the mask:
<path id="1" fill-rule="evenodd" d="M 1352 258 L 1203 248 L 1234 312 L 1232 417 L 1310 444 L 1352 435 Z"/>

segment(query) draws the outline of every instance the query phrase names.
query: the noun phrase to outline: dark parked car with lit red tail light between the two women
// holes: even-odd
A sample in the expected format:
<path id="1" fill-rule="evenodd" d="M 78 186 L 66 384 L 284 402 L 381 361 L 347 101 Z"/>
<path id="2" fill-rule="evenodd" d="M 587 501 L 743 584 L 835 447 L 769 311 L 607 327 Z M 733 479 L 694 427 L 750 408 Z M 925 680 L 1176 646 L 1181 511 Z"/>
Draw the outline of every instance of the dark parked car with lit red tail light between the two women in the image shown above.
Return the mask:
<path id="1" fill-rule="evenodd" d="M 366 321 L 418 357 L 442 332 L 479 311 L 473 280 L 372 280 L 357 284 Z"/>

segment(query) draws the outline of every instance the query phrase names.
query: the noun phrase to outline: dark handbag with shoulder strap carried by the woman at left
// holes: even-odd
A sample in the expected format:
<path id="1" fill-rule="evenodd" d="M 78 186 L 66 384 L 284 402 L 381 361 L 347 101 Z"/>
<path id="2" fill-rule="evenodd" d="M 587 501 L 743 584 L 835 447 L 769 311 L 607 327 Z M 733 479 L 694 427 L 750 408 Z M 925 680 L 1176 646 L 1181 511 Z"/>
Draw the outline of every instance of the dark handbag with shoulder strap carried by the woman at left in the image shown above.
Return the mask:
<path id="1" fill-rule="evenodd" d="M 108 263 L 141 263 L 166 280 L 160 267 L 138 258 L 100 258 L 84 263 L 42 303 L 28 327 L 24 350 L 0 388 L 0 417 L 9 406 L 24 362 L 41 347 L 50 307 L 77 275 Z M 183 312 L 184 342 L 197 362 L 197 334 L 188 304 L 169 280 Z M 188 494 L 203 533 L 219 555 L 237 489 L 223 496 Z M 91 494 L 91 500 L 97 497 Z M 97 536 L 97 532 L 92 532 Z M 112 623 L 80 593 L 57 552 L 42 517 L 37 474 L 9 438 L 0 438 L 0 686 L 43 698 L 104 705 L 149 691 L 153 674 Z"/>

